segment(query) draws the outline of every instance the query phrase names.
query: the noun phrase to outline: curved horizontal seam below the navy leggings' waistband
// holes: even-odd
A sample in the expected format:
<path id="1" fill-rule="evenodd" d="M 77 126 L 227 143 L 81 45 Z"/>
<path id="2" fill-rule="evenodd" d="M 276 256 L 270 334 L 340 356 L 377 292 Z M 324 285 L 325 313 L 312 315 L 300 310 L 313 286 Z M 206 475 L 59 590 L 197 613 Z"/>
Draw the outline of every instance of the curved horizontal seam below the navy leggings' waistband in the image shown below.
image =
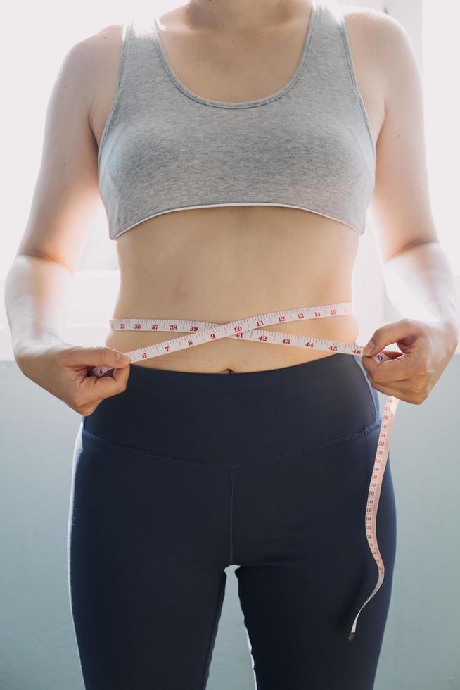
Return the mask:
<path id="1" fill-rule="evenodd" d="M 112 448 L 121 450 L 121 451 L 128 451 L 129 453 L 138 453 L 139 455 L 143 456 L 148 456 L 150 458 L 158 458 L 160 460 L 173 460 L 176 463 L 186 463 L 188 465 L 194 464 L 194 465 L 205 465 L 205 466 L 217 466 L 217 467 L 226 467 L 226 468 L 239 468 L 239 467 L 245 467 L 246 465 L 260 465 L 262 463 L 274 463 L 277 460 L 284 460 L 286 458 L 291 458 L 295 455 L 300 455 L 301 453 L 306 453 L 308 451 L 317 451 L 321 450 L 323 448 L 328 448 L 329 446 L 336 446 L 341 443 L 346 443 L 347 441 L 353 441 L 354 439 L 359 439 L 361 437 L 366 436 L 370 432 L 372 432 L 376 427 L 378 427 L 381 423 L 381 415 L 378 415 L 378 418 L 372 422 L 371 425 L 364 427 L 362 429 L 359 429 L 357 432 L 353 432 L 352 434 L 346 434 L 345 436 L 338 437 L 337 439 L 331 439 L 331 441 L 321 441 L 317 444 L 312 444 L 312 446 L 305 446 L 304 448 L 297 449 L 295 451 L 289 451 L 288 453 L 282 453 L 279 456 L 275 456 L 274 458 L 262 458 L 261 460 L 249 460 L 246 463 L 215 463 L 212 460 L 187 460 L 186 458 L 176 458 L 174 456 L 161 456 L 158 455 L 157 453 L 151 453 L 150 451 L 146 451 L 144 449 L 140 448 L 135 448 L 134 446 L 128 446 L 125 444 L 119 444 L 116 443 L 115 441 L 108 441 L 106 439 L 102 439 L 101 437 L 96 436 L 95 434 L 91 434 L 87 429 L 82 429 L 82 434 L 84 436 L 87 436 L 93 441 L 96 441 L 96 443 L 102 444 L 103 446 L 110 446 Z"/>

